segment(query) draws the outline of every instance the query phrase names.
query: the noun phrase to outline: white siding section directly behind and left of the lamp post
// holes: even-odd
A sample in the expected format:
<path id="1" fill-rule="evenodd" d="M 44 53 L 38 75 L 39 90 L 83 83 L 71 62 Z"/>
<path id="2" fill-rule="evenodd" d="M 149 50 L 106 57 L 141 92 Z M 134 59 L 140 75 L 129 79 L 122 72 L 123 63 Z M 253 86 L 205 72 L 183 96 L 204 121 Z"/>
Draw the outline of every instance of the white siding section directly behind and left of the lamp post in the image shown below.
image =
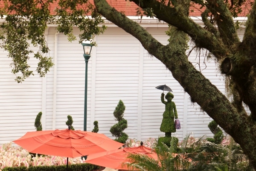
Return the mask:
<path id="1" fill-rule="evenodd" d="M 73 127 L 83 130 L 85 61 L 82 46 L 78 41 L 69 43 L 67 37 L 62 34 L 58 34 L 57 41 L 55 128 L 67 128 L 65 125 L 67 115 L 71 115 L 74 121 Z M 91 78 L 90 71 L 91 67 L 88 65 L 88 78 Z M 88 79 L 88 101 L 90 101 L 90 80 Z M 87 105 L 87 113 L 90 113 L 90 103 Z M 90 121 L 90 116 L 87 118 Z"/>

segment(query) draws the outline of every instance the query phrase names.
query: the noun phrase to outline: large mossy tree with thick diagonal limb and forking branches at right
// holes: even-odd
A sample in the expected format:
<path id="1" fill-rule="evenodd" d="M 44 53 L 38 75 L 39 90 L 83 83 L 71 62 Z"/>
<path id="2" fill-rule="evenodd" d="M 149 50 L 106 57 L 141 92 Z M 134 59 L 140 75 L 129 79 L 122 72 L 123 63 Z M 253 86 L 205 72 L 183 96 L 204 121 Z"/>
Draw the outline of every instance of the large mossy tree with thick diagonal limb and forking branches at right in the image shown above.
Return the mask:
<path id="1" fill-rule="evenodd" d="M 239 44 L 239 40 L 238 36 L 235 34 L 230 13 L 224 11 L 219 16 L 225 23 L 219 21 L 217 24 L 220 28 L 224 27 L 225 29 L 221 29 L 219 32 L 216 30 L 213 31 L 214 29 L 212 29 L 212 31 L 206 31 L 192 20 L 189 20 L 187 16 L 189 4 L 185 4 L 189 3 L 189 1 L 183 1 L 183 4 L 180 4 L 186 8 L 180 8 L 179 12 L 177 12 L 175 8 L 161 6 L 159 1 L 156 0 L 146 0 L 143 1 L 143 3 L 140 3 L 142 0 L 133 1 L 138 5 L 143 4 L 143 6 L 140 5 L 140 7 L 143 8 L 155 6 L 154 14 L 157 15 L 157 18 L 176 26 L 172 27 L 170 30 L 169 36 L 172 41 L 170 41 L 168 45 L 164 46 L 159 43 L 138 23 L 128 19 L 124 14 L 117 12 L 109 6 L 105 0 L 94 0 L 94 3 L 100 14 L 137 38 L 151 55 L 154 55 L 166 65 L 172 72 L 173 77 L 190 95 L 192 102 L 198 103 L 202 110 L 241 145 L 244 153 L 249 157 L 251 164 L 256 168 L 256 119 L 248 116 L 241 105 L 242 101 L 245 101 L 245 103 L 249 105 L 252 113 L 256 111 L 255 88 L 253 89 L 253 87 L 255 87 L 255 77 L 253 77 L 255 72 L 253 75 L 246 76 L 246 74 L 244 72 L 241 73 L 240 70 L 237 78 L 235 77 L 236 74 L 230 74 L 230 85 L 233 86 L 234 95 L 233 103 L 231 103 L 226 96 L 201 74 L 201 72 L 195 69 L 189 62 L 185 54 L 186 49 L 184 49 L 184 47 L 186 47 L 187 33 L 199 47 L 208 49 L 218 60 L 227 58 L 224 60 L 226 63 L 222 65 L 222 67 L 226 67 L 225 71 L 228 70 L 227 73 L 238 72 L 236 71 L 236 67 L 231 69 L 230 66 L 234 64 L 242 66 L 243 69 L 245 66 L 246 71 L 251 71 L 251 67 L 248 68 L 248 66 L 252 66 L 253 64 L 248 65 L 247 60 L 241 61 L 241 64 L 234 62 L 234 58 L 238 58 L 238 55 L 240 57 L 242 55 L 250 56 L 251 53 L 249 55 L 244 54 L 244 51 L 240 50 L 241 45 L 236 49 L 232 49 L 234 44 Z M 211 5 L 211 2 L 212 1 L 209 1 L 209 5 Z M 216 10 L 221 10 L 221 5 L 223 4 L 220 3 L 218 8 L 217 5 L 213 4 L 211 8 L 215 6 Z M 211 10 L 211 8 L 209 8 L 209 10 Z M 159 11 L 159 9 L 161 10 Z M 218 11 L 215 11 L 215 13 L 219 15 Z M 205 24 L 207 24 L 207 22 L 205 22 Z M 221 35 L 225 36 L 221 37 Z M 254 50 L 256 50 L 256 48 L 254 48 Z M 252 79 L 252 81 L 248 82 L 248 79 Z M 247 84 L 242 83 L 242 81 L 247 81 Z M 248 88 L 250 88 L 249 91 L 247 90 Z M 252 93 L 253 96 L 251 96 L 250 93 Z"/>

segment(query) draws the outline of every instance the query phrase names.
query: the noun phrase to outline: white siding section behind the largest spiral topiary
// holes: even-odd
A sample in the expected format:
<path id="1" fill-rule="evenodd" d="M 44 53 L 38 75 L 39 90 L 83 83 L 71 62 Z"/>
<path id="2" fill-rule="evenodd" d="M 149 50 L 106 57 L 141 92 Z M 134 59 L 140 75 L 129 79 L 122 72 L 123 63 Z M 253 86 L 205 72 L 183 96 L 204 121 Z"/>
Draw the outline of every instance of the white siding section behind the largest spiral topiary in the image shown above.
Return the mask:
<path id="1" fill-rule="evenodd" d="M 111 137 L 116 122 L 113 111 L 119 100 L 125 104 L 125 132 L 137 136 L 140 43 L 119 28 L 108 28 L 97 37 L 95 118 L 99 132 Z"/>

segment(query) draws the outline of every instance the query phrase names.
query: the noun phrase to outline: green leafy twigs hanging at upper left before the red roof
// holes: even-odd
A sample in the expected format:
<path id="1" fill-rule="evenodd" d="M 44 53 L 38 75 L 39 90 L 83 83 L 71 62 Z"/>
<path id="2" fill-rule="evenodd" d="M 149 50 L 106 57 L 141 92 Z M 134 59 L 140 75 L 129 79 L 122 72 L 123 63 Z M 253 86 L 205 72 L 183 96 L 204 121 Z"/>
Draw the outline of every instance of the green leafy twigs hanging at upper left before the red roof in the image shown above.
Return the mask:
<path id="1" fill-rule="evenodd" d="M 88 0 L 3 0 L 3 3 L 0 16 L 5 21 L 0 25 L 0 47 L 9 52 L 12 73 L 18 83 L 34 75 L 28 62 L 31 57 L 38 61 L 35 71 L 40 77 L 53 66 L 44 35 L 48 24 L 56 24 L 57 31 L 67 35 L 69 41 L 76 40 L 73 26 L 77 26 L 81 31 L 79 43 L 106 29 L 99 26 L 104 20 Z"/>

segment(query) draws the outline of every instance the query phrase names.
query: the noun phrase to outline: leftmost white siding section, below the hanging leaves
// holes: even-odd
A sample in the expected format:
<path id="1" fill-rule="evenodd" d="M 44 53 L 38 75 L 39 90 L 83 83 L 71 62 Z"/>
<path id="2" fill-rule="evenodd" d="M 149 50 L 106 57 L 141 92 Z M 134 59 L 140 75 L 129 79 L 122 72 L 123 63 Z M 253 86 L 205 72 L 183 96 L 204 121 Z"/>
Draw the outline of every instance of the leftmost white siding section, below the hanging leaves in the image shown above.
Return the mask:
<path id="1" fill-rule="evenodd" d="M 0 144 L 35 130 L 35 116 L 42 105 L 41 78 L 35 74 L 17 84 L 16 76 L 11 73 L 12 61 L 7 55 L 7 52 L 0 50 Z M 28 62 L 32 69 L 35 69 L 36 63 L 33 58 Z"/>

